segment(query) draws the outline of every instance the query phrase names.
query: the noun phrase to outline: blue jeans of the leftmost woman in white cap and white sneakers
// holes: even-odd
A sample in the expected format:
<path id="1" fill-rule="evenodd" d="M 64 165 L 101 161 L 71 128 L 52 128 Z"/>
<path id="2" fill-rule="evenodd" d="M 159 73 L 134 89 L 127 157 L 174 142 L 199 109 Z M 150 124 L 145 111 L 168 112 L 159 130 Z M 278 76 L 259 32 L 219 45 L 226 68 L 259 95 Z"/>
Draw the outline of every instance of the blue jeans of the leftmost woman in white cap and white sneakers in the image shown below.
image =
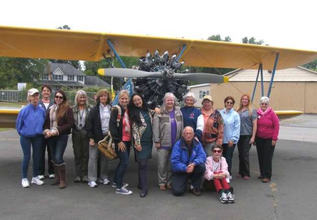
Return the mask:
<path id="1" fill-rule="evenodd" d="M 22 178 L 27 178 L 28 164 L 31 158 L 31 145 L 32 145 L 32 159 L 33 159 L 33 177 L 38 176 L 41 148 L 43 143 L 43 135 L 39 135 L 35 137 L 25 137 L 21 135 L 20 143 L 21 143 L 21 147 L 23 151 Z"/>

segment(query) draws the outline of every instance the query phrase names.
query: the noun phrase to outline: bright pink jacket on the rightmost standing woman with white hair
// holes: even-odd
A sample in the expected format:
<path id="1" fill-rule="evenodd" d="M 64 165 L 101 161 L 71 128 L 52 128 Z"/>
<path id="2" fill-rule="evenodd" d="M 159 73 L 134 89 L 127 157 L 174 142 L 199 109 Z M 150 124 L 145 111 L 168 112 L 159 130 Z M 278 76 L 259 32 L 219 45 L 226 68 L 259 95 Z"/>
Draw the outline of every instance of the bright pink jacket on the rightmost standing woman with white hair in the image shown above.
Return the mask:
<path id="1" fill-rule="evenodd" d="M 267 111 L 264 113 L 261 108 L 258 109 L 258 130 L 257 137 L 263 139 L 277 140 L 279 131 L 279 120 L 277 115 L 268 107 Z"/>

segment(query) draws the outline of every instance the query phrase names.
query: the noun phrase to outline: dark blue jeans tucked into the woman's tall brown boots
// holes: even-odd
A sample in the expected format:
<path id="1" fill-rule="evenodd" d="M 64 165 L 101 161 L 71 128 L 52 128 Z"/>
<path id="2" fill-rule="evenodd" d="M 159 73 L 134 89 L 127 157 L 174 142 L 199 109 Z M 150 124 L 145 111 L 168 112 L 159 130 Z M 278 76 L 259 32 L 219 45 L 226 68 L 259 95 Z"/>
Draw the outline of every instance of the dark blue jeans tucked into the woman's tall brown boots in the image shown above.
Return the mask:
<path id="1" fill-rule="evenodd" d="M 67 146 L 68 134 L 58 135 L 48 139 L 48 146 L 52 152 L 52 160 L 56 164 L 64 162 L 63 155 Z"/>

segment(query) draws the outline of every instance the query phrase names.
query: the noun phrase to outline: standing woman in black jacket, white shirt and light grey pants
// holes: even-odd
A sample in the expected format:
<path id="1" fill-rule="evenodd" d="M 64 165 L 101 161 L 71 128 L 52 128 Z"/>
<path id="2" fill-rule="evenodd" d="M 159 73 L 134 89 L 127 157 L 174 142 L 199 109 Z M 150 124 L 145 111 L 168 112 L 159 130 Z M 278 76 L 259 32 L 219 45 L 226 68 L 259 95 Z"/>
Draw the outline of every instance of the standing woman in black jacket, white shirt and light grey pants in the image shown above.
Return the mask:
<path id="1" fill-rule="evenodd" d="M 99 90 L 96 95 L 97 105 L 94 106 L 86 124 L 87 137 L 89 138 L 89 161 L 88 161 L 88 185 L 97 187 L 98 156 L 100 156 L 100 179 L 99 182 L 108 185 L 108 159 L 98 150 L 98 142 L 103 140 L 109 131 L 111 95 L 108 90 Z"/>

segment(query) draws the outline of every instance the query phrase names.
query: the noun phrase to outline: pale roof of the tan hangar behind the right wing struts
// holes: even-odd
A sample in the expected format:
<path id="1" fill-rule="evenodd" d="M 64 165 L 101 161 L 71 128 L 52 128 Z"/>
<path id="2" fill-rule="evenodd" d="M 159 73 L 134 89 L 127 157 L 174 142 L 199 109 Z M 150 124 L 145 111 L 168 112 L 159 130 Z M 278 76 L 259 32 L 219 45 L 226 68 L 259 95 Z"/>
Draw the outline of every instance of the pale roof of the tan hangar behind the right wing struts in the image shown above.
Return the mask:
<path id="1" fill-rule="evenodd" d="M 258 70 L 237 69 L 225 74 L 229 81 L 256 81 Z M 263 81 L 270 81 L 272 72 L 263 70 Z M 259 75 L 258 81 L 261 81 Z M 276 70 L 274 81 L 317 81 L 317 72 L 303 67 Z"/>

